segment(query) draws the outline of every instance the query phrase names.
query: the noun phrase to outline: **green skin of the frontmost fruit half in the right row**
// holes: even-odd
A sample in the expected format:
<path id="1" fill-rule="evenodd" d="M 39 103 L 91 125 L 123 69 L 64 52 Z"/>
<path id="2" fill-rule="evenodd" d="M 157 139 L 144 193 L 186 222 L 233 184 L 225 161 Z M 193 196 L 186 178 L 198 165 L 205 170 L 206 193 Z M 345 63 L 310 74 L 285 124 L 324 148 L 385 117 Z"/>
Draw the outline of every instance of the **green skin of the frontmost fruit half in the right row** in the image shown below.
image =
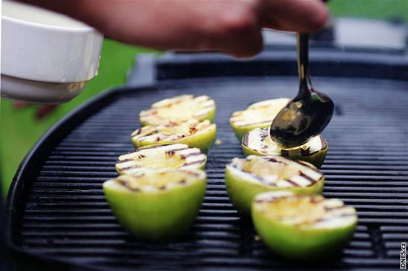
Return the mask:
<path id="1" fill-rule="evenodd" d="M 353 236 L 355 223 L 335 229 L 299 229 L 272 220 L 252 204 L 252 222 L 266 246 L 288 260 L 314 261 L 337 255 Z"/>

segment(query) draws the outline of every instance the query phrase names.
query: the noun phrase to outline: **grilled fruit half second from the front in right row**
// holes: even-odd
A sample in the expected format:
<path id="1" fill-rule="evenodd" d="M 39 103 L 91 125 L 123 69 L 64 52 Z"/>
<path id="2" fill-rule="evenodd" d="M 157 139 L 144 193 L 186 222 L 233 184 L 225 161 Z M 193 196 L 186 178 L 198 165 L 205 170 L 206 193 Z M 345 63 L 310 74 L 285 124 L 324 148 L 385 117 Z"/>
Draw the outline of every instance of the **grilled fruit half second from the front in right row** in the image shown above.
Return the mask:
<path id="1" fill-rule="evenodd" d="M 277 155 L 234 158 L 225 169 L 228 197 L 244 215 L 250 214 L 251 202 L 259 193 L 285 190 L 320 194 L 323 183 L 323 173 L 312 164 Z"/>

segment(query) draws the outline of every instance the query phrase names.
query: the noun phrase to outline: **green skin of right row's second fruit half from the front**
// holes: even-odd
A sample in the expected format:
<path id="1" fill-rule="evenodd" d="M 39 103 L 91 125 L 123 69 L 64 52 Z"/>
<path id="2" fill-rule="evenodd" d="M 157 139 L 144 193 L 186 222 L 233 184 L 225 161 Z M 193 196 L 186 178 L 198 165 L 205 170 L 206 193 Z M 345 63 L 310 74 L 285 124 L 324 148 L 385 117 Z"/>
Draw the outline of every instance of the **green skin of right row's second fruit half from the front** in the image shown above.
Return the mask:
<path id="1" fill-rule="evenodd" d="M 251 202 L 255 196 L 268 191 L 291 191 L 295 194 L 321 194 L 324 176 L 308 187 L 276 187 L 245 181 L 234 176 L 228 166 L 225 168 L 225 186 L 234 207 L 245 216 L 250 216 Z"/>

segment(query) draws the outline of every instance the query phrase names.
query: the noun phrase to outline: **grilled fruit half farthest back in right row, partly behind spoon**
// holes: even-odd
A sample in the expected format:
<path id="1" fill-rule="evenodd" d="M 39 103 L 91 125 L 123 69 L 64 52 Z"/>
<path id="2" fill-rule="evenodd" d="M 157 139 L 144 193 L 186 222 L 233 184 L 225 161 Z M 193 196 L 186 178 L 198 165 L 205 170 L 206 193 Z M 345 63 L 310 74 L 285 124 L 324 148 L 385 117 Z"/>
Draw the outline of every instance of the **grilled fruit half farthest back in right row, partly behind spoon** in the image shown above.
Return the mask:
<path id="1" fill-rule="evenodd" d="M 265 100 L 234 112 L 230 124 L 238 140 L 241 141 L 244 134 L 254 128 L 270 128 L 273 119 L 290 101 L 289 98 Z"/>

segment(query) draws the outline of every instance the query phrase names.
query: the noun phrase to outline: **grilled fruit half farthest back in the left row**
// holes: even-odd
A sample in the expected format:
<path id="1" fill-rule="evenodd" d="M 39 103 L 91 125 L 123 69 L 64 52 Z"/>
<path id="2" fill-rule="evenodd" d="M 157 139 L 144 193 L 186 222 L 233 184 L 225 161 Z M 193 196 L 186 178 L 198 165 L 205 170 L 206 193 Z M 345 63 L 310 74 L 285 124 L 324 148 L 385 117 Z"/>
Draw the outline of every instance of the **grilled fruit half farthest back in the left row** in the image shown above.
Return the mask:
<path id="1" fill-rule="evenodd" d="M 215 102 L 207 95 L 180 95 L 151 105 L 139 114 L 142 125 L 160 125 L 189 119 L 214 121 Z"/>

